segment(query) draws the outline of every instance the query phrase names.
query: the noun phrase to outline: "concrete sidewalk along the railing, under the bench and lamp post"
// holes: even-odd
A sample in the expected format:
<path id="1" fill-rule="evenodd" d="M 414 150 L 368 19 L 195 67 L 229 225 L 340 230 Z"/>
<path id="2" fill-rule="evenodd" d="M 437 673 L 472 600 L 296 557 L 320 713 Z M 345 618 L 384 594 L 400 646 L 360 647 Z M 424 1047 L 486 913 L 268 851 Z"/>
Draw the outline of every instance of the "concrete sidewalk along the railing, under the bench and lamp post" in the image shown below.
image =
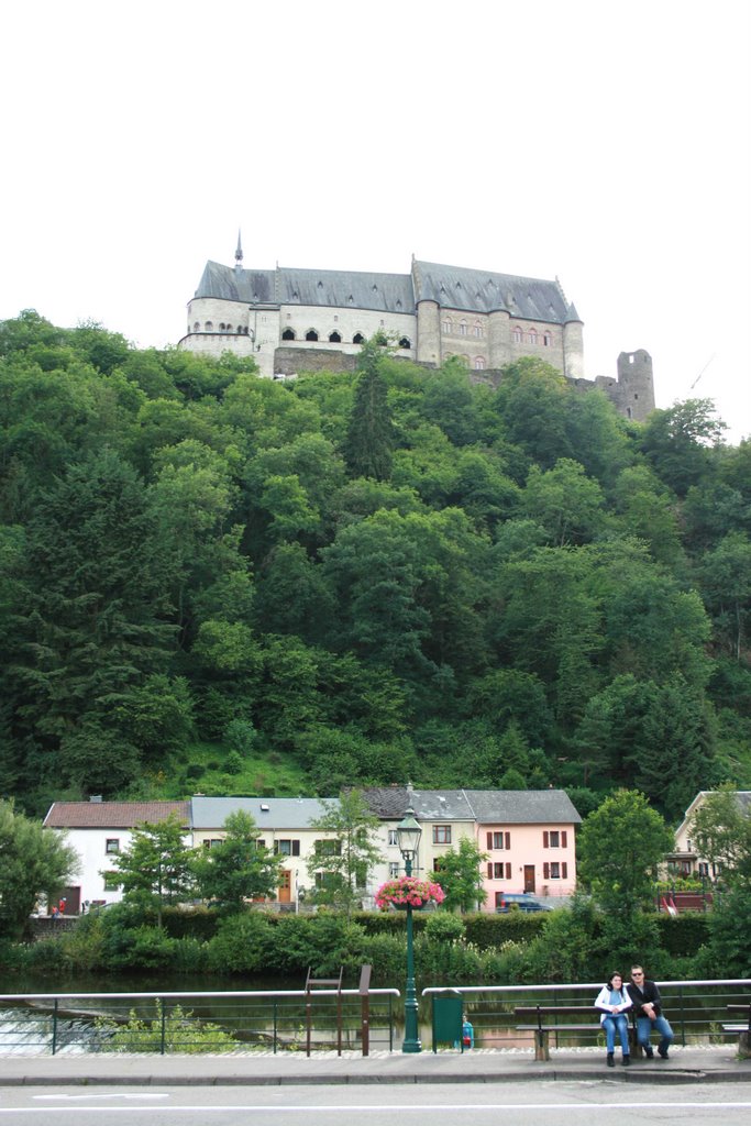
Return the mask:
<path id="1" fill-rule="evenodd" d="M 418 1055 L 374 1052 L 316 1052 L 284 1055 L 56 1055 L 0 1056 L 0 1088 L 11 1085 L 128 1084 L 247 1085 L 358 1083 L 499 1083 L 610 1080 L 614 1082 L 721 1083 L 751 1080 L 751 1060 L 737 1060 L 732 1045 L 671 1048 L 670 1060 L 638 1060 L 605 1066 L 594 1049 L 556 1051 L 539 1063 L 531 1052 L 424 1051 Z"/>

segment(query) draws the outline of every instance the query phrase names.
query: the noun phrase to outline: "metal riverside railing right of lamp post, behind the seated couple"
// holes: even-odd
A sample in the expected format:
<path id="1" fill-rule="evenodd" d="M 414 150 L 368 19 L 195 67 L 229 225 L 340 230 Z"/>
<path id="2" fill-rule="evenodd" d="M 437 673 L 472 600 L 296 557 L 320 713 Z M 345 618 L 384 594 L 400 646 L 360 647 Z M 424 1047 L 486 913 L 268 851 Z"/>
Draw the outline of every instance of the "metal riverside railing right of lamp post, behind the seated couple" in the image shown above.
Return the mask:
<path id="1" fill-rule="evenodd" d="M 726 1043 L 734 1034 L 725 1033 L 728 1004 L 751 1002 L 751 978 L 715 978 L 659 982 L 662 1008 L 676 1036 L 676 1044 L 708 1045 Z M 520 1030 L 522 1022 L 515 1015 L 517 1007 L 581 1006 L 581 1017 L 572 1020 L 571 1013 L 561 1017 L 561 1024 L 582 1026 L 597 1022 L 594 998 L 602 982 L 576 982 L 561 985 L 465 985 L 456 989 L 430 986 L 422 997 L 432 1003 L 441 997 L 461 997 L 467 1019 L 474 1028 L 475 1047 L 531 1048 L 535 1033 Z M 529 1024 L 527 1018 L 525 1024 Z M 555 1025 L 555 1017 L 546 1017 L 547 1025 Z M 735 1034 L 737 1036 L 737 1034 Z M 551 1047 L 585 1047 L 601 1045 L 604 1036 L 597 1029 L 582 1027 L 581 1031 L 566 1027 L 560 1034 L 549 1033 Z"/>

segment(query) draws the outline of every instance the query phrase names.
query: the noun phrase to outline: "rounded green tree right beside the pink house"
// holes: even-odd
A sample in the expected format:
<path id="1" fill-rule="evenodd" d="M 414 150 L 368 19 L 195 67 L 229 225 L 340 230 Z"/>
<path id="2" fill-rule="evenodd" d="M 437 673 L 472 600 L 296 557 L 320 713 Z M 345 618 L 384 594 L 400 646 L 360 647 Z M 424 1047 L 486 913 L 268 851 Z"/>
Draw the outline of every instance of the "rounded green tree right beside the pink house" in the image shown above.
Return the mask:
<path id="1" fill-rule="evenodd" d="M 658 866 L 672 844 L 664 821 L 637 790 L 619 789 L 583 822 L 579 879 L 622 936 L 650 908 Z"/>

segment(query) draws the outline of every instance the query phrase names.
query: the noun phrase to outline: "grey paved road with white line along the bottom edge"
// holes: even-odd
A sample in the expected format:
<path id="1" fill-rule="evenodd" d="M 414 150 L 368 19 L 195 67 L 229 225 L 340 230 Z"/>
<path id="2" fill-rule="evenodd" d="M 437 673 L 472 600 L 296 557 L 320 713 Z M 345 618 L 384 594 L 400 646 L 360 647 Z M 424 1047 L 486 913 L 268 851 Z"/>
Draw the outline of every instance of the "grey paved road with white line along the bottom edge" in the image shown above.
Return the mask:
<path id="1" fill-rule="evenodd" d="M 160 1087 L 80 1085 L 0 1089 L 0 1126 L 36 1126 L 50 1119 L 91 1126 L 748 1126 L 748 1083 L 638 1087 L 615 1080 L 554 1084 L 499 1082 L 370 1087 Z"/>

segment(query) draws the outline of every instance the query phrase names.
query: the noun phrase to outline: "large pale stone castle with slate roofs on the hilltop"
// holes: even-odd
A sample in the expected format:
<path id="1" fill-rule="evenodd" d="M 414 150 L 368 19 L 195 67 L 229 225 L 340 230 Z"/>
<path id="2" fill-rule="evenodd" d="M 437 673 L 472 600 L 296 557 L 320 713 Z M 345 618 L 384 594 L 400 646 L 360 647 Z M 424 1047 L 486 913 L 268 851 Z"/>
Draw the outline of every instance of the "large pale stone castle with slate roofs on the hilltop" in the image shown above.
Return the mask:
<path id="1" fill-rule="evenodd" d="M 178 347 L 252 356 L 261 375 L 349 370 L 360 345 L 386 332 L 396 355 L 427 367 L 463 359 L 476 381 L 536 356 L 581 388 L 600 387 L 626 418 L 654 410 L 652 359 L 622 352 L 617 377 L 584 378 L 583 323 L 556 278 L 519 277 L 412 258 L 409 274 L 249 270 L 238 239 L 234 266 L 206 263 Z"/>

